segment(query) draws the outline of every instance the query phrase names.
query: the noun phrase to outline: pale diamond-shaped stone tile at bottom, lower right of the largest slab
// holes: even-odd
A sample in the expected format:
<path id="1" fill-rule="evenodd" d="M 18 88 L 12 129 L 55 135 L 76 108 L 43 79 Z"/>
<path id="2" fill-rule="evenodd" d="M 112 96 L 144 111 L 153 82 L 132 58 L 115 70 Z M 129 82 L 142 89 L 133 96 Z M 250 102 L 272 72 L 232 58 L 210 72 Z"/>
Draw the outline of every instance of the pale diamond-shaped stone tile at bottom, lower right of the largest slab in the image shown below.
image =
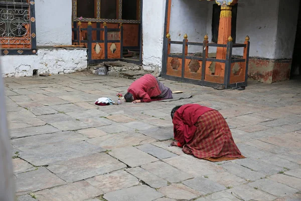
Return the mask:
<path id="1" fill-rule="evenodd" d="M 118 170 L 109 174 L 95 176 L 86 179 L 94 187 L 101 189 L 104 193 L 116 191 L 138 185 L 139 181 L 133 175 L 124 170 Z"/>

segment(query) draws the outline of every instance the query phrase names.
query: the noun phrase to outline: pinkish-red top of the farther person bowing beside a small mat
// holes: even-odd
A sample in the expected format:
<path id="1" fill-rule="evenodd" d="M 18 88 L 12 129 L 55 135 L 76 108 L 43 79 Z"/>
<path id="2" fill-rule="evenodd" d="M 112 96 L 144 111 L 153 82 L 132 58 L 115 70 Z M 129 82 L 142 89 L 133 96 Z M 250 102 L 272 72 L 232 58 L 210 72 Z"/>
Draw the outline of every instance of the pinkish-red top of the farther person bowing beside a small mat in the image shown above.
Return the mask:
<path id="1" fill-rule="evenodd" d="M 152 97 L 161 94 L 158 81 L 155 76 L 146 74 L 134 81 L 127 89 L 127 92 L 133 94 L 134 99 L 140 99 L 141 103 L 151 102 Z"/>

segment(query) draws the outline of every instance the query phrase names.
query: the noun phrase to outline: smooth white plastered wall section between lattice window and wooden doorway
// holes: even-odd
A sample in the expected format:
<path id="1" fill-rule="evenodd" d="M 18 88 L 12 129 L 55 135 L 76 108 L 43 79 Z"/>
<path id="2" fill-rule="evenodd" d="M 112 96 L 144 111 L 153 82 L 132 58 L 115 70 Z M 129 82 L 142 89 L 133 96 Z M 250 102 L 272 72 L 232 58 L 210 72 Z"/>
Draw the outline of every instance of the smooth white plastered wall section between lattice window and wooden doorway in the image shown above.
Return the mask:
<path id="1" fill-rule="evenodd" d="M 36 0 L 37 46 L 72 44 L 72 0 Z"/>

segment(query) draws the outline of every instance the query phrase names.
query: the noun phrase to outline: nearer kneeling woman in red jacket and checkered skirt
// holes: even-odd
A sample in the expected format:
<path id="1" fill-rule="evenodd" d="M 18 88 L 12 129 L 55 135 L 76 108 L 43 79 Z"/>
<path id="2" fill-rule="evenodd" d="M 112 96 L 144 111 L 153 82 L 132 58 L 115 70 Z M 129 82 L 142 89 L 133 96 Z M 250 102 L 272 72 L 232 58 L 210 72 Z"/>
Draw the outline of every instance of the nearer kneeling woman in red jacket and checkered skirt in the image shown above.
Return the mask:
<path id="1" fill-rule="evenodd" d="M 171 145 L 183 147 L 184 153 L 213 162 L 245 158 L 218 111 L 198 104 L 187 104 L 175 107 L 171 116 L 177 140 Z"/>

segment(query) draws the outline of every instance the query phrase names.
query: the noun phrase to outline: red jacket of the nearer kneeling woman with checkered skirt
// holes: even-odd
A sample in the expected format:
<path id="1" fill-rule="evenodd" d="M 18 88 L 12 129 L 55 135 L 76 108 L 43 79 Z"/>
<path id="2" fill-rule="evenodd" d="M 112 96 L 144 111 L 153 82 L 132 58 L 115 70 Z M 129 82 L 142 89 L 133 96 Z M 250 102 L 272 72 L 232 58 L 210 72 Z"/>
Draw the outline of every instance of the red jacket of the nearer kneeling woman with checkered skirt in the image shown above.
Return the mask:
<path id="1" fill-rule="evenodd" d="M 179 108 L 173 118 L 174 137 L 178 141 L 178 146 L 183 147 L 194 137 L 197 130 L 195 124 L 199 117 L 214 109 L 200 106 L 198 104 L 187 104 Z"/>

